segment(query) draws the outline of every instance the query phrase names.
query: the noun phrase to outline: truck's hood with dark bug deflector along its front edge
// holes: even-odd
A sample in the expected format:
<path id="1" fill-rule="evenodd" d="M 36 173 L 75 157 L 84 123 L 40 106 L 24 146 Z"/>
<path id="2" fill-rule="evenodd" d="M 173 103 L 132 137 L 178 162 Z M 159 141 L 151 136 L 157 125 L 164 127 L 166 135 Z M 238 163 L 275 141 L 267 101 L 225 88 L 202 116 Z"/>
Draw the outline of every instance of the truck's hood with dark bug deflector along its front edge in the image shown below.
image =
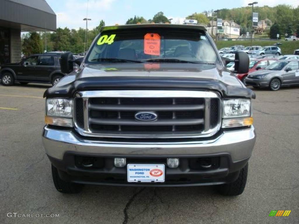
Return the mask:
<path id="1" fill-rule="evenodd" d="M 44 97 L 72 97 L 77 91 L 105 89 L 217 90 L 224 97 L 255 98 L 223 66 L 187 63 L 85 64 L 46 90 Z"/>

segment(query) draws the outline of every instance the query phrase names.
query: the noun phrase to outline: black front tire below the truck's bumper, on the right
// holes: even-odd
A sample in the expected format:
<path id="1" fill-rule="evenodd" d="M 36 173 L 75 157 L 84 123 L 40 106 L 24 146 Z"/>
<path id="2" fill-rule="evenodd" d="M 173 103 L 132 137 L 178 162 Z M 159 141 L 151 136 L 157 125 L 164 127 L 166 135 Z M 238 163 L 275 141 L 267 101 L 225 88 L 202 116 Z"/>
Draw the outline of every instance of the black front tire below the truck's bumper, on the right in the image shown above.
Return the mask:
<path id="1" fill-rule="evenodd" d="M 218 192 L 225 196 L 235 196 L 242 194 L 245 189 L 247 174 L 248 163 L 240 170 L 239 177 L 237 180 L 228 184 L 218 185 Z"/>

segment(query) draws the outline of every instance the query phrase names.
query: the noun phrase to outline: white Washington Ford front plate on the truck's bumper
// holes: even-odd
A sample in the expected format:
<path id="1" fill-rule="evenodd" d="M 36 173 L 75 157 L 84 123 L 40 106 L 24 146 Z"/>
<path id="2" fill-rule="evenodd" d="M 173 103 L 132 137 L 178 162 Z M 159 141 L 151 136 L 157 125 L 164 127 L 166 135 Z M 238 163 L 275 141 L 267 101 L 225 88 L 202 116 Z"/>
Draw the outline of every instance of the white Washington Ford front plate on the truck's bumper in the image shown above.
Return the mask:
<path id="1" fill-rule="evenodd" d="M 164 182 L 164 164 L 128 164 L 128 182 Z"/>

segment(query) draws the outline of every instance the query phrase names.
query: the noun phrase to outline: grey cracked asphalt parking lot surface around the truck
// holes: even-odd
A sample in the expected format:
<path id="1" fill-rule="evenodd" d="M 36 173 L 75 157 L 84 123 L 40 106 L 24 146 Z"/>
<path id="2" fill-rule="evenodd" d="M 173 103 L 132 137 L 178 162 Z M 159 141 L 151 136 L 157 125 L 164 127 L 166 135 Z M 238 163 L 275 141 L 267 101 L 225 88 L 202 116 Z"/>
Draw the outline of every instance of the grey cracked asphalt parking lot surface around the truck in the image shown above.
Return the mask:
<path id="1" fill-rule="evenodd" d="M 298 223 L 298 87 L 254 90 L 257 142 L 238 197 L 223 197 L 211 187 L 57 192 L 41 140 L 48 87 L 0 85 L 0 223 Z M 291 213 L 269 217 L 271 210 Z M 59 217 L 7 217 L 13 212 Z"/>

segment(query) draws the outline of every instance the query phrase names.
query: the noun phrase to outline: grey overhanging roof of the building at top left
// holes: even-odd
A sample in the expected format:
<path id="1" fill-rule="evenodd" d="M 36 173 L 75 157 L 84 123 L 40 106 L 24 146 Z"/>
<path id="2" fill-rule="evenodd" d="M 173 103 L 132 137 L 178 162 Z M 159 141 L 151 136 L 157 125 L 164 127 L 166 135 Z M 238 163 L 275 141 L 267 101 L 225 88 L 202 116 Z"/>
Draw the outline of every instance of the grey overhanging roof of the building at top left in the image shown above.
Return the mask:
<path id="1" fill-rule="evenodd" d="M 0 27 L 56 31 L 56 14 L 44 0 L 0 0 Z"/>

